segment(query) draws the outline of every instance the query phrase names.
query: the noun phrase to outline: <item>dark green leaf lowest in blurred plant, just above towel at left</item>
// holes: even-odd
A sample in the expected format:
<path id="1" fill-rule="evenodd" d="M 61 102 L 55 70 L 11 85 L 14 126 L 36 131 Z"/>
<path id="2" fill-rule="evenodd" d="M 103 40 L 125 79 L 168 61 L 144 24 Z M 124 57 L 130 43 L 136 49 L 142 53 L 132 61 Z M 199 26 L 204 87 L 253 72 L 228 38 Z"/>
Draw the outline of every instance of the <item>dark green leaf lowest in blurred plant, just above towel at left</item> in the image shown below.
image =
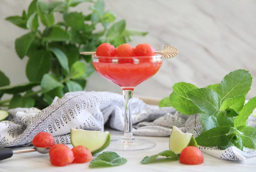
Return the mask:
<path id="1" fill-rule="evenodd" d="M 13 95 L 10 104 L 9 109 L 13 109 L 16 107 L 33 107 L 35 105 L 35 100 L 33 98 L 29 97 L 22 97 L 19 94 Z"/>

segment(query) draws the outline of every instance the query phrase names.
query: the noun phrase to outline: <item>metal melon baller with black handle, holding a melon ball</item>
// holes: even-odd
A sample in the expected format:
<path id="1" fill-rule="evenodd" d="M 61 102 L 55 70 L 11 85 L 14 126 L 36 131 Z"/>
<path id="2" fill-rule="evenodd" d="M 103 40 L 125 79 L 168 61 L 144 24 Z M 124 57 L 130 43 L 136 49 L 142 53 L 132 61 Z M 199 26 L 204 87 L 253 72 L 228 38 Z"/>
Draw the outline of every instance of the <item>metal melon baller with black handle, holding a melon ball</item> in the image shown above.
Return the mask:
<path id="1" fill-rule="evenodd" d="M 27 153 L 27 152 L 39 152 L 39 153 L 49 153 L 51 147 L 34 147 L 31 149 L 21 149 L 13 151 L 10 148 L 0 148 L 0 160 L 5 160 L 7 158 L 11 158 L 13 154 L 18 153 Z"/>

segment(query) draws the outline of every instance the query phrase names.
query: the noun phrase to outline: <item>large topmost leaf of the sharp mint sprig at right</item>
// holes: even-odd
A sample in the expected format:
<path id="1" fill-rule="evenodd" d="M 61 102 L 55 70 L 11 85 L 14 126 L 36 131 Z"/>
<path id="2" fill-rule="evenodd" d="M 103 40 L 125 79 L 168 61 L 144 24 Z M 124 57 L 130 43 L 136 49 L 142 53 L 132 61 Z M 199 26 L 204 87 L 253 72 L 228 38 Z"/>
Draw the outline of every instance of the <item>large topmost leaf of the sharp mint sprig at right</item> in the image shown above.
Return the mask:
<path id="1" fill-rule="evenodd" d="M 227 74 L 217 88 L 221 100 L 246 95 L 252 85 L 252 75 L 246 70 L 235 70 Z"/>

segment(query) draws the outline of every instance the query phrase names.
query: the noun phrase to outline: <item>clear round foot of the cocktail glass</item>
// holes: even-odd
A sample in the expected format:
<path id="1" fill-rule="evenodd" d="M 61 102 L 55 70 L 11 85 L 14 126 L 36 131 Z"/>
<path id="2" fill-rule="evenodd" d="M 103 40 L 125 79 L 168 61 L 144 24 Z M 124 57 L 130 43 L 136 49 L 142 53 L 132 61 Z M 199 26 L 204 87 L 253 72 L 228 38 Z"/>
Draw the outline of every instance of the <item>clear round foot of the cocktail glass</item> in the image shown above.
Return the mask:
<path id="1" fill-rule="evenodd" d="M 123 139 L 111 140 L 108 150 L 110 151 L 139 151 L 151 149 L 156 146 L 155 142 L 146 139 L 135 138 L 133 142 L 123 142 Z"/>

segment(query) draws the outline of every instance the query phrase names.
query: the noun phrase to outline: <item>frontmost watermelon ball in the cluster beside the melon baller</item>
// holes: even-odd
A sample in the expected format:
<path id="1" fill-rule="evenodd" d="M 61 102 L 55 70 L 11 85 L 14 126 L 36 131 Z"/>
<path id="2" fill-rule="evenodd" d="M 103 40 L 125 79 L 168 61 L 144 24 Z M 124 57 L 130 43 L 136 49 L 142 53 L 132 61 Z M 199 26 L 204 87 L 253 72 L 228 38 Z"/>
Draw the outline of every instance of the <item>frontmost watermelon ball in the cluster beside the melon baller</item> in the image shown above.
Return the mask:
<path id="1" fill-rule="evenodd" d="M 73 151 L 65 146 L 57 146 L 50 155 L 50 162 L 54 166 L 66 166 L 75 159 Z"/>

